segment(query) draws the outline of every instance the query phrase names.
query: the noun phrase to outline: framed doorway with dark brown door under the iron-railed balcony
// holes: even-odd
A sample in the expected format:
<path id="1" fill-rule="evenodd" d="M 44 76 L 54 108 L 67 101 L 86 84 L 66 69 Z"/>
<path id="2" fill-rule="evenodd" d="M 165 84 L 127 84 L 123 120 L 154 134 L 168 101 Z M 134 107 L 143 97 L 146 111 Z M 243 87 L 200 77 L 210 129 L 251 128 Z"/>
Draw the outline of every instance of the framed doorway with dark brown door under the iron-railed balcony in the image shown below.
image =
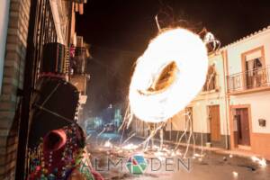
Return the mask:
<path id="1" fill-rule="evenodd" d="M 250 146 L 250 130 L 248 108 L 236 108 L 233 110 L 233 125 L 235 145 Z"/>

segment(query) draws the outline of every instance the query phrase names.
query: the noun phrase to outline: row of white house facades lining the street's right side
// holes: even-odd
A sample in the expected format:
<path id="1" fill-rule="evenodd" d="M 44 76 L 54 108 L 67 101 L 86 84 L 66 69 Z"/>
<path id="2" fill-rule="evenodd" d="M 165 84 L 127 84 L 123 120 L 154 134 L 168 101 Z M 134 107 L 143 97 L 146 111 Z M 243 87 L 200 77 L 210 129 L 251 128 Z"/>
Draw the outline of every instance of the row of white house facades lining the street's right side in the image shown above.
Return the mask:
<path id="1" fill-rule="evenodd" d="M 269 107 L 270 26 L 209 55 L 202 92 L 166 122 L 165 139 L 193 131 L 191 143 L 270 159 Z M 132 130 L 148 136 L 148 123 L 135 119 Z"/>

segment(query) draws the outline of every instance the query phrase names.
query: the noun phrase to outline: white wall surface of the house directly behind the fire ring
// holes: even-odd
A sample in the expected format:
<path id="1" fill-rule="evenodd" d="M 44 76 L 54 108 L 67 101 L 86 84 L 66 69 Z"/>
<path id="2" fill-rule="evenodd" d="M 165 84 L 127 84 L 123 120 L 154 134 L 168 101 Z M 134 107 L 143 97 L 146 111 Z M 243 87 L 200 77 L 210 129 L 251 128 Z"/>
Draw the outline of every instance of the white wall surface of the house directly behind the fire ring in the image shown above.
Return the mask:
<path id="1" fill-rule="evenodd" d="M 220 54 L 211 56 L 209 58 L 209 65 L 215 64 L 216 73 L 218 75 L 218 85 L 220 90 L 212 93 L 200 93 L 188 106 L 193 107 L 193 131 L 210 133 L 210 121 L 208 120 L 208 106 L 220 105 L 220 133 L 229 134 L 227 125 L 226 103 L 225 103 L 225 87 L 224 87 L 224 73 L 223 73 L 223 58 Z M 177 113 L 173 117 L 173 130 L 184 130 L 185 117 L 184 111 Z M 168 121 L 166 130 L 170 130 L 170 121 Z"/>

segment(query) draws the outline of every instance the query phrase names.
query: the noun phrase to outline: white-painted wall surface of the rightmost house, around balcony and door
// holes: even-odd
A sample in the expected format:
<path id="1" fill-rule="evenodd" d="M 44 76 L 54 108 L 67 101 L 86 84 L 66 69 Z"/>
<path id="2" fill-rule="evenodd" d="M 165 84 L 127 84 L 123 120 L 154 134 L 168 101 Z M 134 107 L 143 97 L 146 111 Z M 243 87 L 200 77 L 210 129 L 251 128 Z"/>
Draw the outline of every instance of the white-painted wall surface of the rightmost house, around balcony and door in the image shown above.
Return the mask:
<path id="1" fill-rule="evenodd" d="M 270 66 L 270 29 L 230 45 L 228 49 L 229 75 L 243 71 L 241 54 L 250 49 L 264 46 L 266 66 Z M 252 131 L 270 133 L 270 91 L 261 93 L 238 94 L 230 97 L 230 105 L 250 104 Z M 266 127 L 258 125 L 258 119 L 266 119 Z"/>

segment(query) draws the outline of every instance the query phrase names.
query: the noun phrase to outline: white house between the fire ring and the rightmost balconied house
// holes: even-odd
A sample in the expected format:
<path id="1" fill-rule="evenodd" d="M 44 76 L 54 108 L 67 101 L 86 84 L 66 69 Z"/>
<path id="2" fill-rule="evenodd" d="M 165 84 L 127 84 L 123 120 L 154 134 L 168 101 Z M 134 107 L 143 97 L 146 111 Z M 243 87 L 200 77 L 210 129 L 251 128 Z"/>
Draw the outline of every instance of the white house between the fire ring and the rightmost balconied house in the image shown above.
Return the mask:
<path id="1" fill-rule="evenodd" d="M 202 92 L 184 111 L 179 112 L 167 122 L 166 137 L 168 139 L 179 138 L 188 126 L 190 118 L 196 144 L 204 146 L 206 142 L 209 142 L 214 147 L 229 148 L 223 64 L 221 53 L 209 56 L 209 70 Z"/>

